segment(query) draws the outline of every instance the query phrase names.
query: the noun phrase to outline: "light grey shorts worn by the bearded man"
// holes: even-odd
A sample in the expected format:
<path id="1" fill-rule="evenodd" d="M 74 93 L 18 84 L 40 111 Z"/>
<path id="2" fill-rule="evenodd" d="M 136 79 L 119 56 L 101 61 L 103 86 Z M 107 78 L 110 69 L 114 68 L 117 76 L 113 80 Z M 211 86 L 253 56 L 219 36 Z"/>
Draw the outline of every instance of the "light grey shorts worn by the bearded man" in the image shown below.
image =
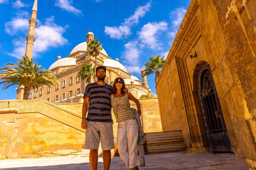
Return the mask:
<path id="1" fill-rule="evenodd" d="M 102 150 L 114 149 L 113 123 L 87 122 L 84 149 L 99 149 L 99 141 L 101 141 Z"/>

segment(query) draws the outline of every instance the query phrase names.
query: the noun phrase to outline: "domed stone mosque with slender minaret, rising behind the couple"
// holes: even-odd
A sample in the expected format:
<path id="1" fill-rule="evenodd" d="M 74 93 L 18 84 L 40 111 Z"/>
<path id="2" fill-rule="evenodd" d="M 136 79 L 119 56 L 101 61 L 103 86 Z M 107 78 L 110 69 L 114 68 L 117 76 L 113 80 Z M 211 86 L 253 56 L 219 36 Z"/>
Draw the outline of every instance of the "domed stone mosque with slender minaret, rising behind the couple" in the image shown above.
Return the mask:
<path id="1" fill-rule="evenodd" d="M 32 58 L 33 37 L 37 15 L 37 6 L 32 9 L 32 17 L 29 20 L 29 35 L 27 36 L 26 55 Z M 67 57 L 57 57 L 57 61 L 52 63 L 49 70 L 55 74 L 59 83 L 55 87 L 39 87 L 38 89 L 31 88 L 29 99 L 44 99 L 51 103 L 77 103 L 82 102 L 84 89 L 87 85 L 85 80 L 78 76 L 81 66 L 92 64 L 94 67 L 94 57 L 87 53 L 87 44 L 94 40 L 93 32 L 89 31 L 86 35 L 86 42 L 81 42 L 76 45 Z M 131 72 L 119 62 L 119 59 L 111 59 L 107 52 L 102 48 L 99 55 L 96 57 L 98 65 L 104 65 L 107 68 L 105 82 L 112 84 L 116 77 L 122 77 L 125 80 L 126 88 L 137 99 L 143 94 L 151 94 L 148 88 L 146 77 L 142 77 L 142 82 L 136 76 L 131 75 Z M 141 71 L 143 75 L 143 71 Z M 93 82 L 93 77 L 91 79 Z M 17 90 L 16 99 L 23 99 L 23 88 Z"/>

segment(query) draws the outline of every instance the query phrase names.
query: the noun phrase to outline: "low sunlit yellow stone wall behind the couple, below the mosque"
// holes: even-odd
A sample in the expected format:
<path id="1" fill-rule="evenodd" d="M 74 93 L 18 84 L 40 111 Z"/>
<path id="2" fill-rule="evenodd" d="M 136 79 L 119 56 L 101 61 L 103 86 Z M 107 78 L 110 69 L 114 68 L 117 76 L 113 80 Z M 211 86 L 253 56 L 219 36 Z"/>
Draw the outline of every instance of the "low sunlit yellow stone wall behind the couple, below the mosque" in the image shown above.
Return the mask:
<path id="1" fill-rule="evenodd" d="M 161 132 L 157 98 L 140 99 L 140 103 L 144 133 Z M 133 102 L 131 106 L 136 108 Z M 81 109 L 82 103 L 0 101 L 0 159 L 88 154 L 89 151 L 83 149 L 85 134 L 81 129 Z M 116 136 L 113 113 L 112 117 Z"/>

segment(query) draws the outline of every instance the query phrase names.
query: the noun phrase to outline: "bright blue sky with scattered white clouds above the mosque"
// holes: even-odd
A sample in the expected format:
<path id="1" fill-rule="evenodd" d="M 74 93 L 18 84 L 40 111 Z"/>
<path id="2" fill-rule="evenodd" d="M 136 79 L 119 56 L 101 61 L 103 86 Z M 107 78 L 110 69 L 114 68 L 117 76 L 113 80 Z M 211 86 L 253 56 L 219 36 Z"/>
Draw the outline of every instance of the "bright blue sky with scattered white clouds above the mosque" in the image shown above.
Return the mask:
<path id="1" fill-rule="evenodd" d="M 34 0 L 0 0 L 0 67 L 25 54 Z M 91 28 L 112 59 L 141 80 L 148 57 L 167 56 L 190 0 L 38 0 L 33 59 L 42 68 L 62 58 Z M 156 95 L 154 75 L 147 77 Z M 15 88 L 0 86 L 0 100 L 16 99 Z"/>

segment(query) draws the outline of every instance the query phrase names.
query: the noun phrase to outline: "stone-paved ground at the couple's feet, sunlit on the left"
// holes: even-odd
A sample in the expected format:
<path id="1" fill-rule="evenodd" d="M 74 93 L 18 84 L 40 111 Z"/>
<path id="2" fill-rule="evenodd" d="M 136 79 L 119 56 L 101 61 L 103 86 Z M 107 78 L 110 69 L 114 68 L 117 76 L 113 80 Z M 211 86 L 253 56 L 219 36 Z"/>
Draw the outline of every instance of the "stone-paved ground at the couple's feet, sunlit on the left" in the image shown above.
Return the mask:
<path id="1" fill-rule="evenodd" d="M 90 170 L 89 157 L 58 156 L 48 158 L 7 159 L 0 161 L 1 170 Z M 120 157 L 111 159 L 111 170 L 127 170 Z M 103 170 L 102 155 L 98 170 Z M 145 155 L 140 170 L 248 170 L 245 160 L 232 153 L 159 153 Z"/>

